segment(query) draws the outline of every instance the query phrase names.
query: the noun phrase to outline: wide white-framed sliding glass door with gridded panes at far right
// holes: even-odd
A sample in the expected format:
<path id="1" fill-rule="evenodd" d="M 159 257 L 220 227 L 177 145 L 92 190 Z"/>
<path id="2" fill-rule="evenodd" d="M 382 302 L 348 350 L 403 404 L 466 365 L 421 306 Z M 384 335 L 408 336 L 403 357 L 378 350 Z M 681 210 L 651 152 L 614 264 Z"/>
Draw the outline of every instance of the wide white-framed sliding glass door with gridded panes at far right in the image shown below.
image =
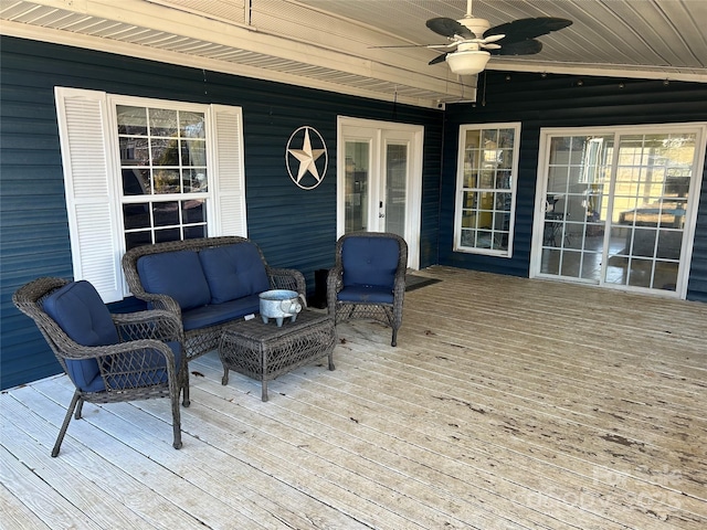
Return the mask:
<path id="1" fill-rule="evenodd" d="M 544 129 L 531 276 L 684 298 L 706 132 Z"/>

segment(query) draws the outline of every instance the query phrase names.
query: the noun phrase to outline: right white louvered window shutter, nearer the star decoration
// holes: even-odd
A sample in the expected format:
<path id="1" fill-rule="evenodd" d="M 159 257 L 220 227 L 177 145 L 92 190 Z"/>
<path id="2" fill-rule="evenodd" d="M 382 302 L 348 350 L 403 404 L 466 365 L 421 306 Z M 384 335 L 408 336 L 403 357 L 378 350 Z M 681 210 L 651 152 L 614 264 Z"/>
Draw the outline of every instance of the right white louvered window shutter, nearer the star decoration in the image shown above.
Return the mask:
<path id="1" fill-rule="evenodd" d="M 210 235 L 247 237 L 245 171 L 243 169 L 243 114 L 240 107 L 212 105 L 215 174 L 215 223 Z M 213 229 L 213 230 L 212 230 Z"/>

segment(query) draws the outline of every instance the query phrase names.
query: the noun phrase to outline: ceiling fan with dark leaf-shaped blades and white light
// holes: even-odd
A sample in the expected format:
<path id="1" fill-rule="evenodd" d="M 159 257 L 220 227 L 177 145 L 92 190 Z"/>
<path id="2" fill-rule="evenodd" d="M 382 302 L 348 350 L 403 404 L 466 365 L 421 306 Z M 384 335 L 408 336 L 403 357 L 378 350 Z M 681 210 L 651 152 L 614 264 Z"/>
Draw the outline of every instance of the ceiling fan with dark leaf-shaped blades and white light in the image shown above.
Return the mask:
<path id="1" fill-rule="evenodd" d="M 446 36 L 447 44 L 431 44 L 431 49 L 449 49 L 429 64 L 446 61 L 450 70 L 458 75 L 477 74 L 486 67 L 492 55 L 531 55 L 542 50 L 536 38 L 558 31 L 572 21 L 553 17 L 519 19 L 490 28 L 486 19 L 472 14 L 472 0 L 466 1 L 466 14 L 454 20 L 445 17 L 430 19 L 426 26 Z"/>

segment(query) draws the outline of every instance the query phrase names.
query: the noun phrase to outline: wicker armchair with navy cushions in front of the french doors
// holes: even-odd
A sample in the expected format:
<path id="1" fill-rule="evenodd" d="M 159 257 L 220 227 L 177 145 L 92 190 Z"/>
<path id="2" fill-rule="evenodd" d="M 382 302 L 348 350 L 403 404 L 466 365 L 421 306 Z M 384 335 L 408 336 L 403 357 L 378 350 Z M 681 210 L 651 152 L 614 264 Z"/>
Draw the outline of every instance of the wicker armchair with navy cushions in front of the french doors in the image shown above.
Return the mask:
<path id="1" fill-rule="evenodd" d="M 327 277 L 327 307 L 335 321 L 379 320 L 397 344 L 405 296 L 408 244 L 392 233 L 354 232 L 339 237 Z"/>

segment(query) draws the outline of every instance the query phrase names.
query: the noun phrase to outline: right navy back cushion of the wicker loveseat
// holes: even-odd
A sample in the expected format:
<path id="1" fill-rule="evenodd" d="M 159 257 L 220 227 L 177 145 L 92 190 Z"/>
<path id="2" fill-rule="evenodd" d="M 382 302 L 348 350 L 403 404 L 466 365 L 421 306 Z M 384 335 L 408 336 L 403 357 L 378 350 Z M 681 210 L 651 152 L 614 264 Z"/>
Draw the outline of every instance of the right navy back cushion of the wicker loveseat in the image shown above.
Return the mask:
<path id="1" fill-rule="evenodd" d="M 257 247 L 250 242 L 199 252 L 211 292 L 211 304 L 223 304 L 270 289 Z"/>

